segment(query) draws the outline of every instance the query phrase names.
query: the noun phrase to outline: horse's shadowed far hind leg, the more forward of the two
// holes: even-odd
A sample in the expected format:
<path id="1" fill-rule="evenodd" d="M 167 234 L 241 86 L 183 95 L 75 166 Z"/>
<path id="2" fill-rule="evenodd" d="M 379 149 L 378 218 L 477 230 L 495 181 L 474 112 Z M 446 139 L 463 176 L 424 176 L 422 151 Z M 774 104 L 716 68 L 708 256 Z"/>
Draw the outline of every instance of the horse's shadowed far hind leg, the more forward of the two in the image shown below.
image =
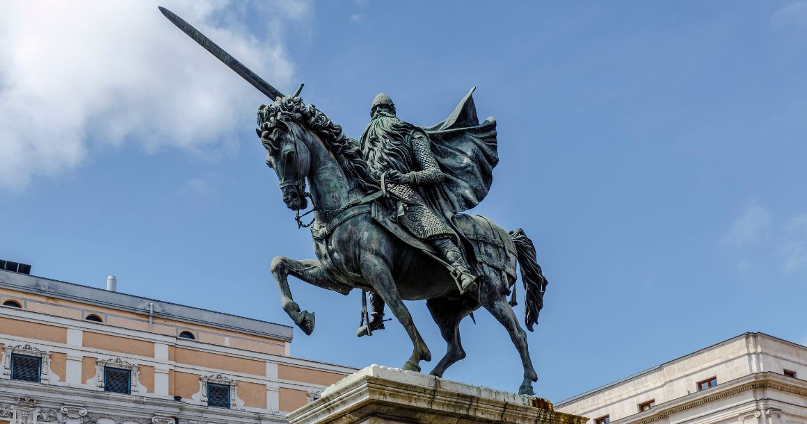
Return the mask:
<path id="1" fill-rule="evenodd" d="M 459 322 L 470 313 L 470 310 L 463 307 L 462 299 L 452 300 L 447 297 L 429 299 L 426 301 L 426 306 L 429 306 L 429 312 L 432 313 L 432 318 L 440 327 L 440 334 L 448 345 L 445 349 L 445 356 L 430 372 L 433 376 L 441 377 L 452 364 L 465 358 L 465 351 L 462 350 L 462 342 L 459 337 Z"/>

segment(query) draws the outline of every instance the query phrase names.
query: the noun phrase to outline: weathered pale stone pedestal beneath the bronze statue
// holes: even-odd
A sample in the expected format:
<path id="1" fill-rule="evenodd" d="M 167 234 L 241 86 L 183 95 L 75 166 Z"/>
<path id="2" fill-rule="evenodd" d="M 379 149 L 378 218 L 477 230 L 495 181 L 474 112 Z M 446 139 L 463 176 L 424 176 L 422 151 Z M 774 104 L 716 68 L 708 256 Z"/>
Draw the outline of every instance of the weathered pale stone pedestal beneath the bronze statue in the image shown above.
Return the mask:
<path id="1" fill-rule="evenodd" d="M 291 424 L 471 423 L 584 424 L 550 401 L 371 365 L 325 389 L 291 414 Z"/>

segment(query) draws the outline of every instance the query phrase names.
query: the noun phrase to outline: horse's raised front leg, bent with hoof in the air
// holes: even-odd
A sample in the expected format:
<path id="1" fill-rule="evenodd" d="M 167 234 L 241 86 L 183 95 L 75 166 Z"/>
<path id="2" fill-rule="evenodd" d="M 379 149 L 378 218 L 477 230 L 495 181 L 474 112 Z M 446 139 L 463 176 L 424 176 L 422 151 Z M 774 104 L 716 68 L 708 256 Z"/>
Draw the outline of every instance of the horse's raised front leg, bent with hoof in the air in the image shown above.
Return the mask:
<path id="1" fill-rule="evenodd" d="M 333 290 L 337 293 L 347 294 L 352 287 L 342 285 L 329 278 L 320 263 L 316 260 L 295 260 L 286 256 L 275 256 L 270 265 L 274 280 L 278 282 L 280 291 L 280 304 L 291 320 L 299 326 L 303 333 L 310 335 L 314 331 L 315 317 L 307 310 L 300 311 L 299 305 L 291 297 L 288 276 L 296 276 L 302 281 L 316 285 L 323 289 Z"/>

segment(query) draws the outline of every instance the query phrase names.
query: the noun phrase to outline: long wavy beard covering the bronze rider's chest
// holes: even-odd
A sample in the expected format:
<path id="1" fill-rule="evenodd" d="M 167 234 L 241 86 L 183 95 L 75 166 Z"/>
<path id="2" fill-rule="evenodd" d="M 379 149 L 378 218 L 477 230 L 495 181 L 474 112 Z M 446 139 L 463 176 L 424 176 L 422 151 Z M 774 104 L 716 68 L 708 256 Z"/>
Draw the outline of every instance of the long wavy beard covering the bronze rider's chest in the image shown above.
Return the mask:
<path id="1" fill-rule="evenodd" d="M 412 171 L 412 148 L 409 138 L 412 125 L 394 114 L 377 111 L 362 134 L 362 153 L 375 173 Z"/>

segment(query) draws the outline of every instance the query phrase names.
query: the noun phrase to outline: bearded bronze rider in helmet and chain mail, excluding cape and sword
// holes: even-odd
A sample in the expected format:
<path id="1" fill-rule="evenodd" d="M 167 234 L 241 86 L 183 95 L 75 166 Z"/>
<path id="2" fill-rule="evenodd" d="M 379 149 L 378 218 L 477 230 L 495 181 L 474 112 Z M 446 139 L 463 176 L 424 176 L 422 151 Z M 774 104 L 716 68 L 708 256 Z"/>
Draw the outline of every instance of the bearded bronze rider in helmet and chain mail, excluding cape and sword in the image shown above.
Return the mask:
<path id="1" fill-rule="evenodd" d="M 378 94 L 370 106 L 370 123 L 362 134 L 362 153 L 370 170 L 395 200 L 395 215 L 403 227 L 418 239 L 431 243 L 451 265 L 460 294 L 477 288 L 479 276 L 470 272 L 458 248 L 458 235 L 424 202 L 418 188 L 441 185 L 444 181 L 435 159 L 429 135 L 420 127 L 401 121 L 387 94 Z M 370 293 L 370 330 L 383 328 L 383 301 Z M 360 331 L 360 333 L 363 333 Z M 363 334 L 360 334 L 363 335 Z"/>

